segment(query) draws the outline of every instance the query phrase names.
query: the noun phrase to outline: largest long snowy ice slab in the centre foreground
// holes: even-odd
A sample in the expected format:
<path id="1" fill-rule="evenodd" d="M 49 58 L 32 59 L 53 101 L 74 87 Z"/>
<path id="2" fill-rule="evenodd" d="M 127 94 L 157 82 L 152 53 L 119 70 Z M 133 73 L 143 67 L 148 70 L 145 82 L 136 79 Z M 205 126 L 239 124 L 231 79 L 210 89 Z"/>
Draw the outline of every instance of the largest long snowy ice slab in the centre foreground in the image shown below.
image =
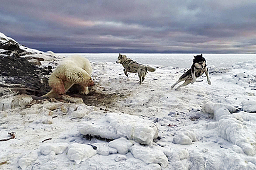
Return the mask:
<path id="1" fill-rule="evenodd" d="M 152 121 L 128 114 L 109 113 L 101 119 L 82 122 L 78 126 L 83 135 L 108 139 L 127 137 L 141 144 L 152 145 L 158 137 L 158 128 Z"/>

